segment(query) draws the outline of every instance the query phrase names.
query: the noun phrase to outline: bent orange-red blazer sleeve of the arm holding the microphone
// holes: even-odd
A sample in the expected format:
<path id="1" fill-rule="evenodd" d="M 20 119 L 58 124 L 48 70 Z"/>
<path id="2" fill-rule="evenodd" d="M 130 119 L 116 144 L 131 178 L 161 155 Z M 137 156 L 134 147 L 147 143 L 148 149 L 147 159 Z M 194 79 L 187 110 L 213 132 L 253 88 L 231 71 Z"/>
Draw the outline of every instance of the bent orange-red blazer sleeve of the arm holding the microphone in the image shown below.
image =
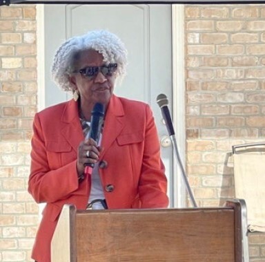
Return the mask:
<path id="1" fill-rule="evenodd" d="M 52 162 L 48 160 L 47 142 L 44 139 L 45 131 L 41 124 L 37 113 L 33 122 L 28 191 L 37 203 L 52 203 L 67 198 L 79 187 L 76 160 L 57 169 L 51 168 Z"/>

